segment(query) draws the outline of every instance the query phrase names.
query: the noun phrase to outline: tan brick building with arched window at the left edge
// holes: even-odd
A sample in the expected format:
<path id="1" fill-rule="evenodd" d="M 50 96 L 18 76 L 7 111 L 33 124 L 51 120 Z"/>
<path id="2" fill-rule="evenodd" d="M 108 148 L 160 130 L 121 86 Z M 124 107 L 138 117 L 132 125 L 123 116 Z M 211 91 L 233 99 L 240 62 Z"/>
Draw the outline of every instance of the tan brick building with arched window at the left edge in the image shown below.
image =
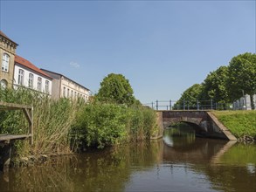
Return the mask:
<path id="1" fill-rule="evenodd" d="M 0 31 L 0 86 L 12 87 L 17 44 Z"/>

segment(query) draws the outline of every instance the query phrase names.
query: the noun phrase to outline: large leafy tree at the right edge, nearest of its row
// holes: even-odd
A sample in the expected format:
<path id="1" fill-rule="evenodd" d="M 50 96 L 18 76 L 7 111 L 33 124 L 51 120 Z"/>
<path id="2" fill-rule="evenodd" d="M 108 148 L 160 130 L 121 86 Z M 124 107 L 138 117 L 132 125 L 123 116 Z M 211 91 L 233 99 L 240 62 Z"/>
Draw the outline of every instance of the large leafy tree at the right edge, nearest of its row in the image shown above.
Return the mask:
<path id="1" fill-rule="evenodd" d="M 227 87 L 232 100 L 239 99 L 244 94 L 249 94 L 251 101 L 256 93 L 256 54 L 246 52 L 240 54 L 229 63 L 229 78 Z M 251 102 L 254 109 L 253 102 Z"/>

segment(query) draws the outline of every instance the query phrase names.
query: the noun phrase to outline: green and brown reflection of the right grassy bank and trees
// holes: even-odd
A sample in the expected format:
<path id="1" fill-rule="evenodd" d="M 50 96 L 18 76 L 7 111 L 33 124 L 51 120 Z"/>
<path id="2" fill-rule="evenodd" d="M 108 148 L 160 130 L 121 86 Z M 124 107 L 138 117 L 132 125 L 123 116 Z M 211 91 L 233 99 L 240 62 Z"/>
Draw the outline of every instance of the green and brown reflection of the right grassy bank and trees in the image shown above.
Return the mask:
<path id="1" fill-rule="evenodd" d="M 256 145 L 237 143 L 205 170 L 214 189 L 256 191 Z"/>

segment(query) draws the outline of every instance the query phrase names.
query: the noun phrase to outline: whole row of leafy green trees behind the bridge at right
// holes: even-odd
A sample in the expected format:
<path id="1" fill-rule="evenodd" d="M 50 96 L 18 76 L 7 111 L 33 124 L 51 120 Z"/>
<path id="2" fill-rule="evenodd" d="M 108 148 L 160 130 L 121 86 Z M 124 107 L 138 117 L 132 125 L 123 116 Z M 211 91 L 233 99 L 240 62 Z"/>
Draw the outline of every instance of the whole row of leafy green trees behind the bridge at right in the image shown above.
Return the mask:
<path id="1" fill-rule="evenodd" d="M 256 94 L 256 54 L 248 52 L 232 58 L 228 66 L 220 66 L 210 72 L 202 84 L 190 86 L 174 107 L 184 105 L 194 108 L 199 100 L 200 106 L 209 106 L 210 102 L 211 105 L 214 102 L 218 104 L 217 108 L 223 109 L 244 94 L 250 95 L 251 100 Z M 251 104 L 254 109 L 253 102 Z"/>

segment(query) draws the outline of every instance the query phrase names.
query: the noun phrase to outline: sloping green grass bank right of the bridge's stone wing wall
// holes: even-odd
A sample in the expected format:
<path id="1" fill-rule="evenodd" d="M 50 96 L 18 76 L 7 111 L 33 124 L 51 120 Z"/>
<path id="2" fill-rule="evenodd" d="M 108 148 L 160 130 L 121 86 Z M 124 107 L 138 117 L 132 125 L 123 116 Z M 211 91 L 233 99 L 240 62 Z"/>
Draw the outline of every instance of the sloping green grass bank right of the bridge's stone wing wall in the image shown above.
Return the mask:
<path id="1" fill-rule="evenodd" d="M 211 113 L 236 137 L 256 138 L 256 111 L 214 111 Z"/>

